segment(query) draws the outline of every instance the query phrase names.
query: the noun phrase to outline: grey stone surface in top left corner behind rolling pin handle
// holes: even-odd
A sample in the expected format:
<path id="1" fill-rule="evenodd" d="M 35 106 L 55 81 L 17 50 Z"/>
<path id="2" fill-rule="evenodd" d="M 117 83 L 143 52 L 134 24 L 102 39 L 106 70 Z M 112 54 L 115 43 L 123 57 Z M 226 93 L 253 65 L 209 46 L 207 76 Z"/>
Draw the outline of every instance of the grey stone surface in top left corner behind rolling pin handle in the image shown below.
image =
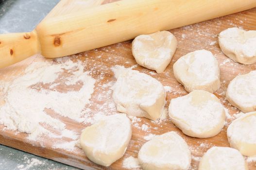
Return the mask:
<path id="1" fill-rule="evenodd" d="M 0 0 L 0 33 L 31 32 L 59 0 Z"/>

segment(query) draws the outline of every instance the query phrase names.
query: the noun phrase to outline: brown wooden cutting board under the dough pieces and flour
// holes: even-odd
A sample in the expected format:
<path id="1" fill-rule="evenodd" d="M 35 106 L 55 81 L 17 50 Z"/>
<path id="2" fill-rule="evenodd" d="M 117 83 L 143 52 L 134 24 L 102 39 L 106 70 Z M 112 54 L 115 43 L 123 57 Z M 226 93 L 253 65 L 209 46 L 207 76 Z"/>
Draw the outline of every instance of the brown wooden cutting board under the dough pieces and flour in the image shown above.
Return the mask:
<path id="1" fill-rule="evenodd" d="M 60 15 L 62 12 L 67 13 L 68 11 L 70 12 L 76 10 L 73 2 L 74 0 L 66 0 L 65 3 L 64 1 L 61 1 L 61 3 L 54 9 L 56 11 L 51 12 L 48 17 L 54 17 L 56 15 Z M 104 1 L 103 3 L 107 2 L 111 2 L 111 0 Z M 80 6 L 79 10 L 84 10 L 84 7 L 85 6 Z M 171 86 L 171 91 L 167 92 L 166 107 L 168 107 L 172 98 L 187 94 L 187 92 L 184 90 L 184 87 L 180 85 L 173 76 L 172 65 L 174 62 L 179 57 L 191 51 L 202 49 L 211 51 L 216 56 L 221 69 L 221 88 L 215 93 L 215 95 L 220 98 L 222 104 L 229 110 L 229 114 L 232 117 L 233 114 L 239 113 L 239 110 L 232 107 L 225 99 L 224 92 L 227 88 L 227 85 L 234 77 L 236 77 L 236 75 L 248 73 L 251 70 L 256 70 L 256 64 L 241 65 L 233 62 L 232 60 L 229 60 L 222 53 L 218 45 L 218 34 L 222 30 L 229 27 L 241 27 L 245 30 L 256 30 L 256 8 L 240 12 L 238 14 L 212 19 L 202 23 L 171 30 L 171 33 L 174 34 L 178 40 L 178 48 L 174 54 L 173 59 L 171 60 L 170 65 L 167 67 L 164 73 L 156 74 L 154 71 L 140 66 L 137 66 L 134 69 L 151 75 L 152 77 L 159 80 L 163 85 Z M 72 59 L 78 58 L 79 60 L 86 62 L 86 70 L 97 70 L 92 74 L 92 77 L 97 81 L 94 93 L 91 98 L 92 105 L 90 106 L 93 114 L 99 111 L 99 105 L 103 105 L 103 108 L 101 108 L 102 110 L 108 111 L 108 105 L 104 105 L 104 103 L 112 102 L 111 94 L 104 93 L 109 90 L 109 87 L 104 89 L 102 88 L 102 85 L 104 84 L 115 82 L 113 72 L 108 68 L 111 68 L 115 65 L 122 65 L 125 67 L 136 65 L 136 61 L 131 51 L 131 43 L 132 40 L 70 56 Z M 30 63 L 37 60 L 47 59 L 44 59 L 41 56 L 34 56 L 23 62 L 17 63 L 16 65 L 0 69 L 0 81 L 14 77 L 15 75 L 22 72 L 22 70 L 24 70 Z M 102 72 L 103 74 L 101 74 Z M 101 100 L 99 100 L 100 95 L 103 96 Z M 54 116 L 54 113 L 49 112 L 49 114 Z M 68 129 L 72 129 L 79 134 L 81 133 L 82 129 L 89 125 L 77 123 L 67 118 L 59 119 L 66 123 Z M 54 149 L 52 147 L 52 143 L 58 142 L 58 140 L 66 142 L 71 141 L 69 138 L 56 139 L 45 137 L 44 140 L 30 141 L 26 138 L 27 134 L 5 130 L 4 126 L 0 125 L 0 143 L 81 169 L 121 170 L 124 169 L 122 167 L 122 162 L 125 158 L 131 155 L 137 157 L 137 153 L 140 147 L 146 142 L 144 136 L 149 134 L 159 135 L 169 131 L 176 131 L 187 141 L 190 147 L 191 153 L 193 155 L 191 170 L 197 170 L 200 157 L 209 148 L 212 146 L 229 146 L 226 136 L 226 129 L 232 119 L 235 118 L 232 117 L 231 119 L 226 119 L 227 125 L 224 126 L 222 132 L 217 136 L 201 139 L 185 136 L 177 127 L 171 123 L 169 118 L 157 123 L 152 122 L 149 119 L 141 118 L 141 121 L 137 122 L 137 124 L 133 123 L 132 140 L 125 155 L 108 168 L 98 166 L 89 161 L 83 151 L 79 148 L 76 148 L 74 151 L 67 151 L 64 149 Z M 147 130 L 145 130 L 145 128 L 141 129 L 143 124 L 147 125 L 149 128 Z M 250 163 L 249 169 L 256 170 L 256 163 Z"/>

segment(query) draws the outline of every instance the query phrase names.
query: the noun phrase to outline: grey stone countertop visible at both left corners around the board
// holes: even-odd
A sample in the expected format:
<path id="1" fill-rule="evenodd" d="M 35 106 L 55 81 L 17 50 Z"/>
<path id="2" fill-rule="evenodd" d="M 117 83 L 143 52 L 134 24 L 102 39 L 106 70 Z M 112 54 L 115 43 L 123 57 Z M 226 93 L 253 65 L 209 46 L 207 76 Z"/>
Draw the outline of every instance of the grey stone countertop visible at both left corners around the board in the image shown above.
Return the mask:
<path id="1" fill-rule="evenodd" d="M 30 32 L 59 0 L 0 0 L 0 34 Z M 0 145 L 0 170 L 78 170 Z"/>

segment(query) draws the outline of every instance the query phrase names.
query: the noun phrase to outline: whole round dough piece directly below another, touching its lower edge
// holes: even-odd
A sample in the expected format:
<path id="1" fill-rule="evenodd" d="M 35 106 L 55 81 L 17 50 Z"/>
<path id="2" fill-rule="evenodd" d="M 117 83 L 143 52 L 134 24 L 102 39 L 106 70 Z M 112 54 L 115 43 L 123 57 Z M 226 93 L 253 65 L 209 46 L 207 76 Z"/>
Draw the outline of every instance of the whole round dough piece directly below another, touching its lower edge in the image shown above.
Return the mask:
<path id="1" fill-rule="evenodd" d="M 169 105 L 171 121 L 192 137 L 212 137 L 225 124 L 225 110 L 212 93 L 194 90 L 186 96 L 172 99 Z"/>

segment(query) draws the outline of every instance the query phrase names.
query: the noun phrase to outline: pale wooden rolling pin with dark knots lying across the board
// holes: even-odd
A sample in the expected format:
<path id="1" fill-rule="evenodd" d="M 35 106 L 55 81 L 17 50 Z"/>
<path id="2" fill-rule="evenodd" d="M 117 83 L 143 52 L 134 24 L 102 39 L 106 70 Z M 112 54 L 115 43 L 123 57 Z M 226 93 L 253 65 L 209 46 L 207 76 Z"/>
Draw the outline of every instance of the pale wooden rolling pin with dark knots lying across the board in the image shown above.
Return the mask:
<path id="1" fill-rule="evenodd" d="M 253 7 L 256 0 L 121 0 L 48 17 L 31 33 L 0 34 L 0 68 L 36 53 L 67 56 Z"/>

